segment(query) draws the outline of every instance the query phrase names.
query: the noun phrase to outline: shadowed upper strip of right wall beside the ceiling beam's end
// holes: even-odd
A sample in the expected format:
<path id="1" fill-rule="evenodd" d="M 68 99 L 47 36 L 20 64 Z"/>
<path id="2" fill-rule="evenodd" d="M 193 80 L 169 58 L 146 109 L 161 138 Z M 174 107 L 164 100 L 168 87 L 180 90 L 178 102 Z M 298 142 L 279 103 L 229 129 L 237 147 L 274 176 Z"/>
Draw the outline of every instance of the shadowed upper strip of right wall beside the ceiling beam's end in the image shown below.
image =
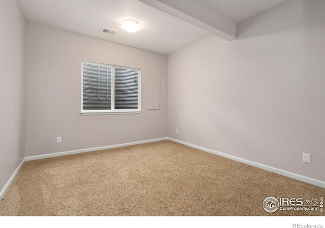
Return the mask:
<path id="1" fill-rule="evenodd" d="M 325 29 L 323 0 L 288 0 L 237 23 L 237 40 L 302 27 Z M 257 18 L 256 18 L 257 17 Z M 322 18 L 322 20 L 320 20 Z"/>

